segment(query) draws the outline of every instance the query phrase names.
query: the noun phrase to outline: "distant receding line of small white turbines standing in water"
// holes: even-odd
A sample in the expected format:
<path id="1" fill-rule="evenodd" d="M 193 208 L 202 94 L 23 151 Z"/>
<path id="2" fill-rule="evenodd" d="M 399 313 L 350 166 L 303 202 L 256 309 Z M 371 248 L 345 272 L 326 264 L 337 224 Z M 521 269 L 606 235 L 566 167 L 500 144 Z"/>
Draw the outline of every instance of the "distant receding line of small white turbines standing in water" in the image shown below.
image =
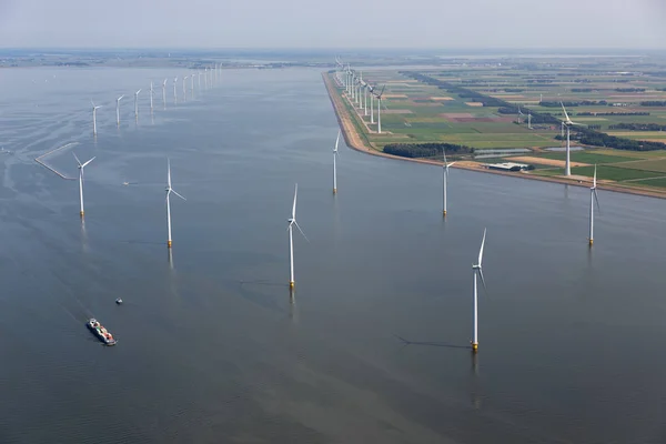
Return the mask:
<path id="1" fill-rule="evenodd" d="M 222 79 L 222 63 L 215 63 L 214 67 L 206 67 L 203 70 L 196 70 L 196 72 L 192 72 L 191 74 L 184 75 L 181 78 L 182 82 L 182 100 L 188 100 L 188 88 L 190 89 L 190 99 L 194 98 L 194 84 L 196 83 L 199 91 L 201 91 L 202 82 L 201 78 L 203 77 L 203 88 L 209 89 L 216 84 L 219 80 Z M 194 82 L 196 79 L 196 82 Z M 164 79 L 162 82 L 162 108 L 167 109 L 167 83 L 169 82 L 169 78 Z M 178 103 L 178 75 L 173 78 L 173 103 Z M 189 84 L 188 84 L 189 83 Z M 142 89 L 137 90 L 134 95 L 134 119 L 139 120 L 139 94 Z M 153 81 L 150 81 L 149 98 L 150 98 L 150 113 L 152 114 L 154 111 L 154 89 Z M 115 99 L 115 124 L 120 127 L 120 101 L 124 99 L 124 94 L 120 95 Z M 92 134 L 97 137 L 97 111 L 103 105 L 95 105 L 94 101 L 90 101 L 92 104 Z"/>

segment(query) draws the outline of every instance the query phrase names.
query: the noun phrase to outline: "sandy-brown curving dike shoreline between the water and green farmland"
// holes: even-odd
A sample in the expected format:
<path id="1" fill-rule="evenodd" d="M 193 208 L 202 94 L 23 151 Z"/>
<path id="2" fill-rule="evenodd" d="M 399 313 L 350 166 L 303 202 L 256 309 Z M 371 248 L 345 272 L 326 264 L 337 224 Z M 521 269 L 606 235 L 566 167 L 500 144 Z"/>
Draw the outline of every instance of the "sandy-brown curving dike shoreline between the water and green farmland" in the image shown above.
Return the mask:
<path id="1" fill-rule="evenodd" d="M 331 100 L 333 110 L 335 111 L 335 118 L 337 119 L 337 124 L 340 125 L 342 135 L 344 137 L 344 141 L 346 142 L 347 147 L 350 147 L 351 149 L 353 149 L 355 151 L 364 152 L 366 154 L 377 155 L 381 158 L 387 158 L 387 159 L 394 159 L 394 160 L 401 160 L 403 162 L 414 162 L 414 163 L 422 163 L 422 164 L 437 165 L 437 167 L 441 167 L 443 164 L 443 162 L 438 162 L 438 161 L 434 161 L 434 160 L 412 159 L 412 158 L 403 158 L 400 155 L 387 154 L 382 151 L 377 151 L 376 149 L 374 149 L 372 147 L 367 147 L 365 143 L 363 143 L 362 137 L 356 132 L 354 122 L 352 121 L 353 118 L 347 115 L 346 107 L 344 105 L 344 103 L 342 103 L 343 99 L 342 99 L 341 94 L 337 92 L 337 89 L 336 89 L 333 80 L 329 75 L 329 73 L 325 71 L 322 72 L 322 79 L 324 81 L 324 85 L 326 87 L 326 92 L 329 93 L 329 99 Z M 467 171 L 476 171 L 480 173 L 505 175 L 505 176 L 516 178 L 516 179 L 528 179 L 528 180 L 536 180 L 536 181 L 542 181 L 542 182 L 559 183 L 559 184 L 564 184 L 564 185 L 589 188 L 589 184 L 578 183 L 578 181 L 576 179 L 565 179 L 562 176 L 554 178 L 554 176 L 547 176 L 547 175 L 535 175 L 535 174 L 529 174 L 529 173 L 514 173 L 514 172 L 506 172 L 506 171 L 488 170 L 486 168 L 481 167 L 480 163 L 472 162 L 472 161 L 456 162 L 455 165 L 453 165 L 451 168 L 457 168 L 457 169 L 467 170 Z M 666 190 L 659 191 L 659 190 L 635 189 L 635 188 L 627 188 L 627 186 L 624 186 L 624 185 L 620 185 L 617 183 L 597 183 L 597 189 L 604 190 L 604 191 L 612 191 L 612 192 L 616 192 L 616 193 L 625 193 L 625 194 L 643 195 L 643 196 L 647 196 L 647 198 L 666 199 Z"/>

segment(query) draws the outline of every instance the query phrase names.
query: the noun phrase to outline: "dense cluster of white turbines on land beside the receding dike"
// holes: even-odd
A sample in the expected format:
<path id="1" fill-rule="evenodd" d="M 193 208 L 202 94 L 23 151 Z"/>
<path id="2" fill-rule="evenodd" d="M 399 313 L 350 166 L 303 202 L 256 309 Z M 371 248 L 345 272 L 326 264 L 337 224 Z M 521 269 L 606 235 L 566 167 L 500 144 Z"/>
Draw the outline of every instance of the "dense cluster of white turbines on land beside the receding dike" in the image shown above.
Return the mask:
<path id="1" fill-rule="evenodd" d="M 337 84 L 344 88 L 350 104 L 359 108 L 364 117 L 367 117 L 367 97 L 370 93 L 370 123 L 374 124 L 374 100 L 377 101 L 377 134 L 382 133 L 382 105 L 386 109 L 386 103 L 382 101 L 385 85 L 377 92 L 377 87 L 373 87 L 363 80 L 363 71 L 356 72 L 347 63 L 346 67 L 335 58 L 335 78 Z"/>

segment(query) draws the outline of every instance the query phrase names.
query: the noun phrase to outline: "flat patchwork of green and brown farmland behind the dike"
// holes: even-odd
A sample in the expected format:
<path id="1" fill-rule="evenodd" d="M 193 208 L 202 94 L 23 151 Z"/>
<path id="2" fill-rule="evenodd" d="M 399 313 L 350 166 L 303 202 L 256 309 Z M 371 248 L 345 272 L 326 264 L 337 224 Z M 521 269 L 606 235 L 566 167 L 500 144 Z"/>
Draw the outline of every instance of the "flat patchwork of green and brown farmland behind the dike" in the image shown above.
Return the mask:
<path id="1" fill-rule="evenodd" d="M 589 176 L 596 164 L 599 180 L 666 189 L 666 145 L 649 145 L 666 143 L 666 60 L 461 59 L 437 69 L 364 70 L 363 80 L 375 92 L 384 88 L 382 133 L 376 99 L 370 117 L 370 92 L 367 110 L 345 103 L 363 140 L 376 150 L 395 143 L 450 143 L 474 149 L 463 155 L 467 160 L 493 150 L 477 161 L 528 161 L 535 168 L 529 173 L 562 175 L 566 142 L 557 120 L 565 118 L 564 102 L 574 122 L 632 141 L 637 149 L 582 143 L 585 139 L 577 139 L 583 133 L 574 127 L 572 147 L 583 150 L 572 151 L 572 174 Z M 342 88 L 340 93 L 346 98 Z M 643 142 L 650 151 L 636 148 Z M 524 152 L 504 151 L 515 149 Z"/>

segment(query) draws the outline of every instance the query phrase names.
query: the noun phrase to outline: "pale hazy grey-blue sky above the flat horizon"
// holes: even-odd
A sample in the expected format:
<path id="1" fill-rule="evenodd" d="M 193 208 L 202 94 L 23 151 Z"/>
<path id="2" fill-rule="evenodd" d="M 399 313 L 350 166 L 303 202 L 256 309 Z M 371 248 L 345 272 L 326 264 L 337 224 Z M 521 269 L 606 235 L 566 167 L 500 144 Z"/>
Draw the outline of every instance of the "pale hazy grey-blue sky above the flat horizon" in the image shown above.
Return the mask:
<path id="1" fill-rule="evenodd" d="M 0 47 L 666 48 L 666 0 L 0 0 Z"/>

